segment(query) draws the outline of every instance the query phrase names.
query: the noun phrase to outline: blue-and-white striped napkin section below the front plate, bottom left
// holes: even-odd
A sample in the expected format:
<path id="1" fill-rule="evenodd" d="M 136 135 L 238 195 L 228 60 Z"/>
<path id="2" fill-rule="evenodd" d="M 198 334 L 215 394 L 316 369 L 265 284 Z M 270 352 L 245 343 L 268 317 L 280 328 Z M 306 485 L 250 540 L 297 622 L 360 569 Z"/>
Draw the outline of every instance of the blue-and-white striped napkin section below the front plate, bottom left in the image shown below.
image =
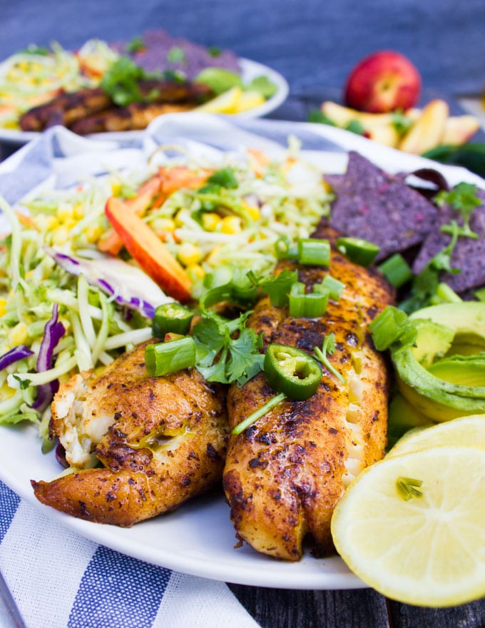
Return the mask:
<path id="1" fill-rule="evenodd" d="M 27 628 L 259 626 L 224 582 L 97 545 L 51 521 L 2 482 L 0 568 Z"/>

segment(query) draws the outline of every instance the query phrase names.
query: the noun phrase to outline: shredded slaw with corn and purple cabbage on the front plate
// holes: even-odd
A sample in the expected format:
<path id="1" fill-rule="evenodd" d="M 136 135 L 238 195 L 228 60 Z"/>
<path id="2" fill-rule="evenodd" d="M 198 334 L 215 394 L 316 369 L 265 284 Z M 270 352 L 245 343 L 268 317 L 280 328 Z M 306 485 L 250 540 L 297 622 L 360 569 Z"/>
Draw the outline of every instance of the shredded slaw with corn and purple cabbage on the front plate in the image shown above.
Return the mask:
<path id="1" fill-rule="evenodd" d="M 0 360 L 10 355 L 0 370 L 0 421 L 38 424 L 44 449 L 46 400 L 58 383 L 148 340 L 153 308 L 173 300 L 126 251 L 98 249 L 110 229 L 107 199 L 133 198 L 160 168 L 202 178 L 225 171 L 235 181 L 175 189 L 143 216 L 189 274 L 194 300 L 235 274 L 270 272 L 278 238 L 310 236 L 330 211 L 322 171 L 301 158 L 294 139 L 276 161 L 251 150 L 195 158 L 182 146 L 160 146 L 136 171 L 39 191 L 15 208 L 0 199 L 10 231 L 0 251 Z"/>

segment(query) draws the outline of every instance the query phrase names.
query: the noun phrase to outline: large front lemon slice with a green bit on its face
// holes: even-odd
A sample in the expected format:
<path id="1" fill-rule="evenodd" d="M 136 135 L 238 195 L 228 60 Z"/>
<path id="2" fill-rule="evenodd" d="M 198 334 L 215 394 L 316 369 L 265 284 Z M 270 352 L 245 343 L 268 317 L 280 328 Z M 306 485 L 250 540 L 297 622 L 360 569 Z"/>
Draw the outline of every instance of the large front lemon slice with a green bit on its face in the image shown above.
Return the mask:
<path id="1" fill-rule="evenodd" d="M 410 479 L 422 495 L 405 499 L 398 482 Z M 367 467 L 337 504 L 332 537 L 349 568 L 391 599 L 445 607 L 484 596 L 485 449 L 432 447 Z"/>

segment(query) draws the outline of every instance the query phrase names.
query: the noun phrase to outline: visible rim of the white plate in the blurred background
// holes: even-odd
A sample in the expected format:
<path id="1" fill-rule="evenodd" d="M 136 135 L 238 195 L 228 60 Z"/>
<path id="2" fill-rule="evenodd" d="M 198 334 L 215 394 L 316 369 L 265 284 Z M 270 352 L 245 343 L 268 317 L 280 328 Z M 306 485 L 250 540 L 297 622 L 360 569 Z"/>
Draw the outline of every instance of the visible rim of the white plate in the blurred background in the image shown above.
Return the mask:
<path id="1" fill-rule="evenodd" d="M 277 90 L 268 98 L 265 103 L 262 103 L 259 107 L 253 107 L 252 109 L 248 109 L 247 111 L 243 111 L 241 113 L 235 114 L 233 117 L 235 118 L 260 118 L 262 116 L 266 116 L 271 111 L 274 111 L 277 107 L 279 107 L 287 98 L 288 92 L 290 88 L 288 83 L 282 74 L 279 72 L 272 70 L 268 66 L 257 63 L 257 61 L 250 61 L 250 59 L 239 59 L 239 63 L 242 70 L 242 80 L 245 83 L 250 83 L 252 78 L 255 76 L 267 76 L 267 78 L 275 83 L 277 86 Z M 93 134 L 93 139 L 111 139 L 115 141 L 126 140 L 130 138 L 137 138 L 141 136 L 143 131 L 124 131 L 118 133 L 96 133 Z M 17 131 L 16 129 L 11 128 L 1 128 L 0 127 L 0 142 L 7 142 L 11 144 L 15 144 L 21 146 L 36 137 L 39 136 L 40 133 L 36 133 L 35 131 Z"/>

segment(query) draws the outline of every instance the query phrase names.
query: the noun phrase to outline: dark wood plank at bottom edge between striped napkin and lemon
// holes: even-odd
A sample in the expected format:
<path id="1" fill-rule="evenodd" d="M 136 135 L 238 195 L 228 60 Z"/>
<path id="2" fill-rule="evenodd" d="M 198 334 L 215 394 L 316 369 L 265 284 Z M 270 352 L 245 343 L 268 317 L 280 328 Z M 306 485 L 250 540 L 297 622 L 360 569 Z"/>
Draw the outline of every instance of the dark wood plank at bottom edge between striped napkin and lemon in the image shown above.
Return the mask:
<path id="1" fill-rule="evenodd" d="M 372 589 L 292 591 L 228 586 L 262 628 L 390 628 L 386 600 Z"/>

